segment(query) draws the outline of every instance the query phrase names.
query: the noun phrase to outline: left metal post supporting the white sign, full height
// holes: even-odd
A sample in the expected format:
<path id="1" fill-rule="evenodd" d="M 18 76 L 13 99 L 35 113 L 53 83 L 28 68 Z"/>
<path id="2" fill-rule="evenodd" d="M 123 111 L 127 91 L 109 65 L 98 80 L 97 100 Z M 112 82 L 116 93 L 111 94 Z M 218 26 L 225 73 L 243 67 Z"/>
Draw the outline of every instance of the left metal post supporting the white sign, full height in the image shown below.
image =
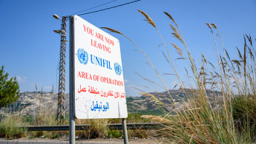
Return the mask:
<path id="1" fill-rule="evenodd" d="M 75 144 L 75 118 L 73 117 L 73 16 L 70 16 L 69 24 L 69 143 Z"/>

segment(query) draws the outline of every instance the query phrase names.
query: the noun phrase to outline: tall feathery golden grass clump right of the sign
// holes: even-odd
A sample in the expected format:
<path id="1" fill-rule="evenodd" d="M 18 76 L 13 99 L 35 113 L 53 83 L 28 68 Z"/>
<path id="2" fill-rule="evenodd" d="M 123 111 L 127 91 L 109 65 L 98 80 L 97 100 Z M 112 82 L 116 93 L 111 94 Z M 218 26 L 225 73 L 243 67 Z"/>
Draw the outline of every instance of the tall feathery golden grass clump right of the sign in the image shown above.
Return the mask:
<path id="1" fill-rule="evenodd" d="M 157 25 L 154 24 L 152 18 L 145 12 L 138 11 L 145 17 L 145 21 L 151 24 L 157 30 L 157 34 L 160 35 L 160 31 Z M 160 109 L 163 109 L 163 112 L 165 112 L 165 115 L 163 117 L 154 115 L 144 115 L 142 117 L 167 123 L 167 126 L 160 130 L 160 137 L 165 137 L 166 140 L 174 143 L 252 143 L 255 140 L 255 118 L 252 117 L 255 113 L 255 103 L 249 100 L 249 96 L 252 96 L 254 100 L 256 96 L 256 53 L 252 47 L 252 38 L 245 35 L 243 54 L 237 49 L 239 59 L 232 60 L 223 45 L 217 26 L 215 24 L 207 24 L 216 46 L 217 66 L 215 68 L 202 54 L 202 64 L 198 69 L 183 38 L 180 27 L 178 27 L 176 21 L 174 21 L 174 18 L 170 14 L 165 13 L 165 15 L 171 20 L 169 23 L 172 31 L 171 34 L 180 41 L 180 44 L 171 43 L 171 46 L 180 55 L 178 59 L 182 59 L 187 64 L 188 67 L 185 70 L 188 75 L 193 75 L 194 83 L 191 85 L 195 86 L 196 89 L 193 91 L 186 89 L 186 87 L 191 85 L 181 79 L 179 72 L 177 72 L 177 65 L 174 64 L 174 58 L 171 57 L 170 48 L 167 47 L 162 35 L 160 35 L 162 40 L 161 45 L 163 45 L 165 50 L 165 52 L 162 51 L 163 59 L 166 60 L 167 65 L 171 66 L 171 73 L 173 73 L 172 75 L 177 80 L 177 86 L 183 89 L 187 99 L 190 101 L 180 109 L 170 93 L 167 96 L 161 95 L 169 100 L 169 103 L 174 106 L 173 109 L 170 105 L 163 103 L 163 101 L 154 95 L 150 93 L 143 94 L 148 95 L 148 97 L 151 97 L 152 100 L 158 103 Z M 117 30 L 108 27 L 102 28 L 123 35 L 122 32 Z M 221 44 L 217 44 L 215 34 L 220 38 Z M 125 35 L 123 36 L 128 38 Z M 131 41 L 130 38 L 128 40 Z M 246 44 L 248 41 L 249 45 Z M 134 41 L 131 42 L 147 58 L 148 64 L 153 68 L 161 84 L 152 82 L 150 78 L 143 79 L 155 87 L 163 88 L 168 92 L 168 88 L 160 72 L 155 68 L 148 55 Z M 223 49 L 223 55 L 219 54 L 219 45 Z M 214 96 L 214 103 L 210 101 L 207 89 L 214 89 L 221 92 L 221 95 Z M 157 92 L 156 90 L 154 91 Z M 237 95 L 240 97 L 237 97 Z M 169 114 L 171 113 L 169 109 L 175 112 L 175 116 Z M 237 120 L 239 122 L 238 125 Z"/>

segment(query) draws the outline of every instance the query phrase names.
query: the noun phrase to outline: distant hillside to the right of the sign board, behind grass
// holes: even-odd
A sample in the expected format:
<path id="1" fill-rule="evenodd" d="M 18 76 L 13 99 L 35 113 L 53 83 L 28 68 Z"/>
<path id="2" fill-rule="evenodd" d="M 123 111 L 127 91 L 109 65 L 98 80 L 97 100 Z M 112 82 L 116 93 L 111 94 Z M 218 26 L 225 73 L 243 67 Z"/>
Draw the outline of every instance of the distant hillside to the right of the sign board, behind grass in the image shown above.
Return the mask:
<path id="1" fill-rule="evenodd" d="M 194 89 L 185 89 L 188 98 L 193 99 L 194 95 L 197 95 Z M 185 92 L 182 89 L 173 89 L 168 91 L 171 97 L 174 100 L 174 103 L 177 107 L 183 108 L 185 103 L 188 102 L 188 98 Z M 168 109 L 168 112 L 171 112 L 174 107 L 173 101 L 171 100 L 170 95 L 167 91 L 165 92 L 149 92 L 142 94 L 141 97 L 127 97 L 127 106 L 128 112 L 140 113 L 140 114 L 163 114 L 163 108 L 159 109 L 159 103 L 156 103 L 153 97 L 157 97 L 162 103 L 165 103 L 171 109 Z M 209 100 L 214 103 L 214 96 L 219 97 L 221 92 L 206 90 L 207 95 L 209 96 Z M 194 95 L 193 95 L 194 93 Z M 151 95 L 151 96 L 150 96 Z"/>

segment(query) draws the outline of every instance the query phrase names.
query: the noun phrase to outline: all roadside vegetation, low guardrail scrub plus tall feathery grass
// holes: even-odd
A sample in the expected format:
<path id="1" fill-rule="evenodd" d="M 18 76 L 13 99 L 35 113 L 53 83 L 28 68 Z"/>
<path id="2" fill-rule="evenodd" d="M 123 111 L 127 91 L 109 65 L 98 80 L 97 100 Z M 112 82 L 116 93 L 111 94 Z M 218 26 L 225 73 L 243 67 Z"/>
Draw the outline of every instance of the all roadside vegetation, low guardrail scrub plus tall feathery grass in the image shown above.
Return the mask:
<path id="1" fill-rule="evenodd" d="M 228 50 L 224 47 L 223 39 L 216 24 L 206 24 L 216 48 L 217 62 L 211 63 L 202 54 L 201 64 L 198 66 L 186 44 L 180 27 L 170 14 L 164 13 L 168 19 L 170 34 L 179 41 L 179 44 L 167 44 L 154 23 L 145 12 L 139 13 L 145 17 L 145 21 L 154 27 L 156 34 L 160 36 L 163 48 L 163 58 L 166 67 L 171 67 L 171 77 L 177 80 L 175 87 L 182 89 L 186 99 L 185 106 L 179 107 L 173 96 L 168 92 L 163 75 L 155 68 L 154 62 L 148 58 L 142 48 L 134 43 L 130 38 L 117 30 L 102 27 L 110 32 L 115 32 L 128 38 L 142 55 L 148 60 L 148 64 L 156 73 L 161 83 L 155 83 L 150 78 L 143 78 L 155 87 L 163 88 L 168 95 L 162 95 L 167 102 L 161 101 L 151 93 L 142 93 L 151 100 L 157 109 L 153 114 L 128 114 L 127 123 L 165 123 L 164 128 L 155 131 L 132 130 L 128 131 L 128 137 L 161 137 L 168 143 L 255 143 L 256 140 L 256 51 L 255 41 L 250 35 L 244 35 L 244 46 L 237 48 L 237 58 L 229 57 Z M 218 42 L 220 41 L 220 42 Z M 177 64 L 171 56 L 176 51 L 178 59 L 186 64 L 186 71 L 190 84 L 184 82 L 177 71 Z M 221 55 L 221 54 L 222 55 Z M 217 63 L 216 66 L 214 64 Z M 140 77 L 142 77 L 140 75 Z M 207 91 L 211 89 L 217 91 L 216 95 L 209 96 Z M 214 101 L 212 101 L 212 98 Z M 180 97 L 183 100 L 182 97 Z M 130 99 L 129 99 L 130 100 Z M 161 111 L 161 114 L 155 114 Z M 68 115 L 68 114 L 67 114 Z M 99 119 L 99 120 L 76 120 L 76 124 L 91 124 L 88 131 L 76 131 L 79 138 L 122 137 L 122 131 L 109 130 L 108 123 L 121 123 L 119 119 Z M 68 125 L 68 117 L 65 121 Z M 53 126 L 56 125 L 55 112 L 47 112 L 40 109 L 36 117 L 23 117 L 12 113 L 1 117 L 0 136 L 1 137 L 44 137 L 59 138 L 68 137 L 68 131 L 33 131 L 28 132 L 19 126 Z"/>

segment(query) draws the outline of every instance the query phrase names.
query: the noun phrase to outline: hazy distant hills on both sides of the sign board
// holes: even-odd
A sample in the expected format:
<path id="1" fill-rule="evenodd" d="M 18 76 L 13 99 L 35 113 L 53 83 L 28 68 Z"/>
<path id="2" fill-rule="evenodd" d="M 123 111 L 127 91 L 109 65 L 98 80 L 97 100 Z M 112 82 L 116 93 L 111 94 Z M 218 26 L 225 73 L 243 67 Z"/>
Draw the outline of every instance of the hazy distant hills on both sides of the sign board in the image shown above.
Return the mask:
<path id="1" fill-rule="evenodd" d="M 188 94 L 191 94 L 193 89 L 186 89 Z M 177 104 L 179 108 L 182 108 L 184 104 L 188 101 L 185 93 L 181 89 L 174 89 L 168 91 L 174 102 Z M 161 102 L 165 103 L 169 107 L 173 107 L 173 104 L 170 103 L 170 97 L 168 92 L 150 92 L 150 95 L 157 97 Z M 212 99 L 212 103 L 214 101 L 214 95 L 221 95 L 220 92 L 214 92 L 207 90 L 207 93 Z M 19 99 L 14 102 L 9 108 L 2 108 L 0 110 L 0 114 L 4 114 L 5 112 L 10 112 L 10 108 L 12 112 L 16 112 L 24 115 L 34 115 L 39 114 L 39 112 L 52 112 L 56 114 L 57 111 L 57 98 L 58 95 L 56 93 L 50 92 L 21 92 Z M 155 103 L 152 97 L 148 97 L 148 95 L 142 94 L 140 97 L 126 97 L 127 107 L 129 113 L 138 113 L 138 114 L 163 114 L 163 111 L 157 109 L 157 103 Z M 69 95 L 65 95 L 65 109 L 66 112 L 69 110 Z M 169 109 L 171 111 L 171 109 Z"/>

